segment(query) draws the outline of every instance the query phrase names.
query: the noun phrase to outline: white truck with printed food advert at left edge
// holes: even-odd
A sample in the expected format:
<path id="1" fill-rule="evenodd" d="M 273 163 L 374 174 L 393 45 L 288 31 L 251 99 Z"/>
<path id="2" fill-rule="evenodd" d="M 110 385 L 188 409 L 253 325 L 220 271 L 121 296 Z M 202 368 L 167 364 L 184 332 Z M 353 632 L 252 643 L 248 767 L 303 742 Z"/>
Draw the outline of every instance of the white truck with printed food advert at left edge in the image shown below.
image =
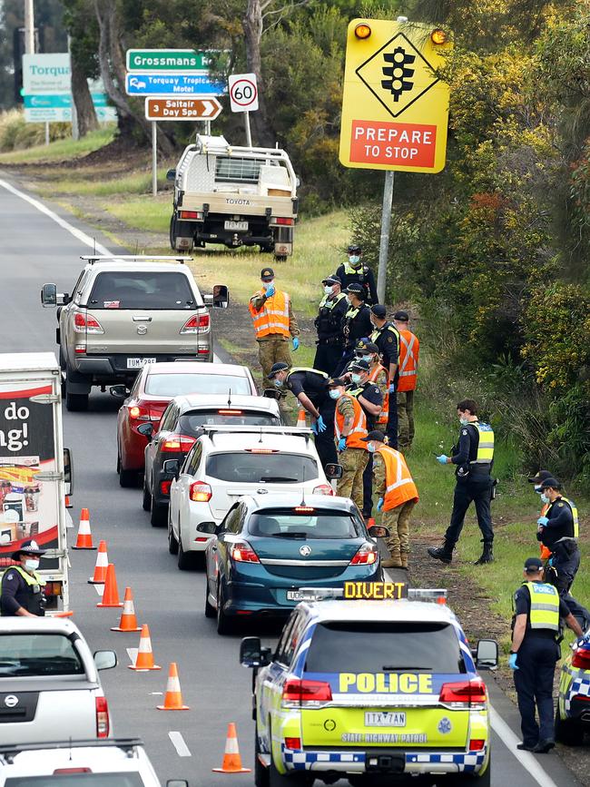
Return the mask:
<path id="1" fill-rule="evenodd" d="M 64 448 L 61 371 L 53 352 L 0 354 L 0 573 L 29 538 L 47 550 L 39 573 L 46 614 L 66 614 L 66 495 L 72 457 Z"/>

